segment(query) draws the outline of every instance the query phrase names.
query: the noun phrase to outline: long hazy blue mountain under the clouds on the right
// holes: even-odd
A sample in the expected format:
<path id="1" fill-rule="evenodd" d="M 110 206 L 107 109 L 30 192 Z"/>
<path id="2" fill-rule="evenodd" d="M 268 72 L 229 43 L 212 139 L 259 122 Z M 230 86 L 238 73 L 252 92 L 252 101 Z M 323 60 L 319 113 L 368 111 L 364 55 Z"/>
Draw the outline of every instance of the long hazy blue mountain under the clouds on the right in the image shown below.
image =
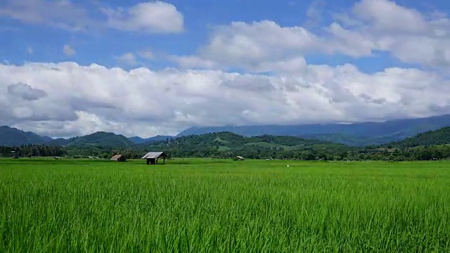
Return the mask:
<path id="1" fill-rule="evenodd" d="M 176 137 L 229 131 L 242 136 L 299 136 L 353 146 L 376 145 L 432 131 L 450 125 L 450 115 L 418 119 L 397 119 L 387 122 L 354 124 L 300 124 L 292 126 L 195 126 Z"/>

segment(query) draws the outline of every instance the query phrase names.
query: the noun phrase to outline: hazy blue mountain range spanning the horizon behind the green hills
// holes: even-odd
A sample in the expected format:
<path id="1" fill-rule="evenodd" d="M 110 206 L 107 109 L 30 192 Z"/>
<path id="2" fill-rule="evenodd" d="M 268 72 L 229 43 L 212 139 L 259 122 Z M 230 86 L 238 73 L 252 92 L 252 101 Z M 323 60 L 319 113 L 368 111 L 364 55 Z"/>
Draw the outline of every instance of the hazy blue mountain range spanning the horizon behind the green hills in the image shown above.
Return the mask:
<path id="1" fill-rule="evenodd" d="M 297 136 L 302 138 L 317 139 L 345 145 L 364 146 L 378 145 L 401 141 L 404 138 L 415 136 L 425 131 L 433 131 L 450 126 L 450 115 L 428 117 L 420 119 L 397 119 L 387 122 L 364 122 L 356 124 L 304 124 L 295 126 L 201 126 L 191 127 L 176 136 L 155 136 L 141 138 L 134 136 L 127 138 L 120 134 L 106 133 L 103 131 L 77 136 L 73 138 L 50 138 L 39 136 L 32 132 L 25 132 L 9 126 L 0 126 L 0 145 L 108 145 L 127 147 L 134 144 L 165 141 L 188 135 L 200 135 L 214 132 L 228 131 L 241 136 Z"/>

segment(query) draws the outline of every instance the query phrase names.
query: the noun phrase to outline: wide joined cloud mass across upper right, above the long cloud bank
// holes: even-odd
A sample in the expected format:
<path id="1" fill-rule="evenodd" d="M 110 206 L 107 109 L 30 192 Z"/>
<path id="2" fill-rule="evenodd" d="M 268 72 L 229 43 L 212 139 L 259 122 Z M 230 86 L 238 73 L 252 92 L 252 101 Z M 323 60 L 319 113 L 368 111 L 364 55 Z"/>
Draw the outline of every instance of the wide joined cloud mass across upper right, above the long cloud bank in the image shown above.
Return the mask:
<path id="1" fill-rule="evenodd" d="M 314 1 L 310 18 L 320 10 Z M 307 25 L 311 25 L 307 23 Z M 240 68 L 252 72 L 282 71 L 307 54 L 353 58 L 390 53 L 404 63 L 426 67 L 450 66 L 450 19 L 446 15 L 420 13 L 389 0 L 361 0 L 322 32 L 305 27 L 283 27 L 276 22 L 232 22 L 215 27 L 208 43 L 190 56 L 171 56 L 181 67 Z M 414 53 L 411 53 L 414 52 Z M 291 67 L 292 69 L 292 67 Z"/>

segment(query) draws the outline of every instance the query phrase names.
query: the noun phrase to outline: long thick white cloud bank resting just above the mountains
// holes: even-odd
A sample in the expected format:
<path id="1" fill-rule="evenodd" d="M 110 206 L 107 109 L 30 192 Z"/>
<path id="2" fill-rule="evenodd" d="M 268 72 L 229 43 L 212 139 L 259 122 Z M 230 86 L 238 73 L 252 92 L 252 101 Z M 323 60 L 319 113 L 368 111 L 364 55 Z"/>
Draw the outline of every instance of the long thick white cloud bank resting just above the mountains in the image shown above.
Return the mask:
<path id="1" fill-rule="evenodd" d="M 422 117 L 450 106 L 450 82 L 437 74 L 401 68 L 364 74 L 352 65 L 302 65 L 271 77 L 76 63 L 0 65 L 0 89 L 14 84 L 20 84 L 13 87 L 17 96 L 0 93 L 1 122 L 58 136 L 103 130 L 145 137 L 192 125 Z"/>

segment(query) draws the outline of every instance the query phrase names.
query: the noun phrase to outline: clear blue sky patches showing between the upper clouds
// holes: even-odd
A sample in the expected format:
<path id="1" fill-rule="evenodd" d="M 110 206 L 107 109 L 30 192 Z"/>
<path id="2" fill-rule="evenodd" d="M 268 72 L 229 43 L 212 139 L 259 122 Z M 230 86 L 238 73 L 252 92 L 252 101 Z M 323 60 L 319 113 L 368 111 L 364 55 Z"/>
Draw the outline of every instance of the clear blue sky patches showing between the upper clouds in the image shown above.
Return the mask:
<path id="1" fill-rule="evenodd" d="M 352 7 L 355 1 L 165 1 L 176 6 L 184 15 L 184 32 L 169 34 L 141 34 L 139 32 L 122 32 L 117 30 L 90 30 L 88 32 L 73 32 L 57 27 L 41 24 L 24 23 L 8 16 L 1 17 L 3 29 L 0 30 L 0 57 L 10 63 L 22 64 L 26 61 L 60 62 L 74 60 L 81 64 L 101 63 L 117 65 L 116 56 L 129 51 L 151 50 L 161 55 L 187 55 L 195 53 L 207 41 L 210 31 L 217 25 L 229 25 L 233 21 L 255 22 L 273 20 L 282 27 L 306 25 L 311 30 L 321 32 L 323 26 L 333 22 L 333 15 Z M 448 11 L 448 1 L 409 0 L 396 1 L 398 4 L 423 11 Z M 73 1 L 77 6 L 89 9 L 89 15 L 96 19 L 102 15 L 97 8 L 129 8 L 141 1 L 108 1 L 96 4 L 95 1 Z M 311 9 L 316 9 L 314 16 L 307 15 Z M 61 54 L 60 48 L 69 44 L 77 53 L 74 56 Z M 30 54 L 27 49 L 32 48 Z M 146 49 L 143 49 L 146 48 Z M 370 58 L 352 58 L 336 54 L 333 57 L 321 54 L 307 54 L 308 63 L 339 65 L 353 63 L 362 70 L 374 72 L 392 65 L 402 63 L 390 57 L 389 53 L 378 53 Z M 174 67 L 164 59 L 146 60 L 150 67 Z"/>

